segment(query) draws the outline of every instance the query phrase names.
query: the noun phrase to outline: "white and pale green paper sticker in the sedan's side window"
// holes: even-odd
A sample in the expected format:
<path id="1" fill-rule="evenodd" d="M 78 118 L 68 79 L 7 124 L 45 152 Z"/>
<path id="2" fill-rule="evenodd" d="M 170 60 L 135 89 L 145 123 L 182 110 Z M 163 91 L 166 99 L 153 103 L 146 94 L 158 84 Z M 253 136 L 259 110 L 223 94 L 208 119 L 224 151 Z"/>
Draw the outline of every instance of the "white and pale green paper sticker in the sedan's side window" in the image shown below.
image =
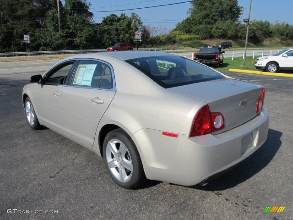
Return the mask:
<path id="1" fill-rule="evenodd" d="M 91 86 L 91 81 L 93 79 L 93 73 L 95 72 L 97 64 L 82 64 L 79 65 L 73 84 L 81 86 Z"/>

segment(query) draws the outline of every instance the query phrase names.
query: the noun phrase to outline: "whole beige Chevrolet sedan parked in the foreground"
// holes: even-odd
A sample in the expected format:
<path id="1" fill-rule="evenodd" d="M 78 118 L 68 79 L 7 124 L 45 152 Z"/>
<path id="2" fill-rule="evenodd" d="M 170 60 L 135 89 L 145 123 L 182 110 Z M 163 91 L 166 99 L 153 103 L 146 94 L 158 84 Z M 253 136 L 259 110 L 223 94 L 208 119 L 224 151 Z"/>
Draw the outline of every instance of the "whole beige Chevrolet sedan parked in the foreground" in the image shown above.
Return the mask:
<path id="1" fill-rule="evenodd" d="M 23 87 L 28 125 L 97 153 L 113 180 L 205 184 L 266 140 L 265 90 L 177 55 L 67 57 Z"/>

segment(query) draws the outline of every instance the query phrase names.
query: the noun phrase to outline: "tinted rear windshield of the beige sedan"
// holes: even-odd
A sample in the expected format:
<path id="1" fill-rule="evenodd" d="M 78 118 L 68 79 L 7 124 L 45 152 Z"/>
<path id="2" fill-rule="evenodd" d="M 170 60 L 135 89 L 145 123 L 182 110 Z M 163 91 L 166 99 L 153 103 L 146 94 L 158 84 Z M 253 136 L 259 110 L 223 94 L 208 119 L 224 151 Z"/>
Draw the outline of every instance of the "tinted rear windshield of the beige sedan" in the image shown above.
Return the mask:
<path id="1" fill-rule="evenodd" d="M 225 78 L 203 64 L 180 56 L 142 57 L 126 62 L 164 88 Z"/>

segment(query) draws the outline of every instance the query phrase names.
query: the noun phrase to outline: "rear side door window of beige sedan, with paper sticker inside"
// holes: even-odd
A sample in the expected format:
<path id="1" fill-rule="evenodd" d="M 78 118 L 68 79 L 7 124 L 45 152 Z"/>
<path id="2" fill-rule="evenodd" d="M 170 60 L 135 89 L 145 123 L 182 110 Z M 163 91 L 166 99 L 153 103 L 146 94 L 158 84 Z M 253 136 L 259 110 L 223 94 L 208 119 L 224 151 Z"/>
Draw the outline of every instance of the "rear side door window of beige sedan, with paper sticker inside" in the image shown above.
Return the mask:
<path id="1" fill-rule="evenodd" d="M 71 85 L 112 89 L 113 79 L 111 69 L 102 62 L 81 60 L 74 71 Z"/>

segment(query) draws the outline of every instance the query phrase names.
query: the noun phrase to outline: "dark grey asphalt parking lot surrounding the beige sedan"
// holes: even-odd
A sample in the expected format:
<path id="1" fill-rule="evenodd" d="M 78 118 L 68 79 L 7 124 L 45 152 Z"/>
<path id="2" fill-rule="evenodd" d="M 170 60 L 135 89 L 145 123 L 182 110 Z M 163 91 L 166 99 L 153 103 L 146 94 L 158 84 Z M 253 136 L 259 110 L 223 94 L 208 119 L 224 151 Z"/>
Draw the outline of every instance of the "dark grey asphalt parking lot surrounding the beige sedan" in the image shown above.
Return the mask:
<path id="1" fill-rule="evenodd" d="M 29 128 L 22 87 L 46 65 L 27 62 L 0 65 L 0 219 L 293 219 L 293 78 L 225 72 L 262 84 L 270 114 L 267 141 L 234 170 L 205 187 L 149 181 L 127 190 L 95 153 Z"/>

